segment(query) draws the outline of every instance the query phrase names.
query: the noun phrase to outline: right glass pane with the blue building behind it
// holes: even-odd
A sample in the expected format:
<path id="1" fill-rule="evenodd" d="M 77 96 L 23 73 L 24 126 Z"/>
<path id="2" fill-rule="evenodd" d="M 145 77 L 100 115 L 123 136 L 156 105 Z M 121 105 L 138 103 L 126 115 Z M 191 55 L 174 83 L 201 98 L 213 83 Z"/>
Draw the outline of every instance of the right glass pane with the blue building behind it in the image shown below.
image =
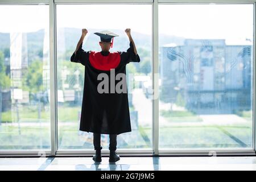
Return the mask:
<path id="1" fill-rule="evenodd" d="M 253 147 L 253 4 L 159 5 L 159 148 Z"/>

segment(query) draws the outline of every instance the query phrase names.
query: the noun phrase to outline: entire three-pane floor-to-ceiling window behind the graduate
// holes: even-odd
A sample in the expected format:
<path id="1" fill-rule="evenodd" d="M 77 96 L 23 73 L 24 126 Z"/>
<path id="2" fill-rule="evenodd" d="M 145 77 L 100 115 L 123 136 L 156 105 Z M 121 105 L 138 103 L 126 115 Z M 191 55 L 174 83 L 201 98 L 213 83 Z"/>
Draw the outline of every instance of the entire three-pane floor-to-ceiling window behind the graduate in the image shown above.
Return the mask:
<path id="1" fill-rule="evenodd" d="M 101 2 L 0 2 L 0 155 L 94 152 L 93 134 L 79 130 L 86 68 L 70 61 L 82 28 L 85 51 L 101 51 L 94 32 L 118 34 L 110 52 L 129 48 L 131 28 L 141 58 L 126 65 L 123 154 L 255 153 L 256 1 Z"/>

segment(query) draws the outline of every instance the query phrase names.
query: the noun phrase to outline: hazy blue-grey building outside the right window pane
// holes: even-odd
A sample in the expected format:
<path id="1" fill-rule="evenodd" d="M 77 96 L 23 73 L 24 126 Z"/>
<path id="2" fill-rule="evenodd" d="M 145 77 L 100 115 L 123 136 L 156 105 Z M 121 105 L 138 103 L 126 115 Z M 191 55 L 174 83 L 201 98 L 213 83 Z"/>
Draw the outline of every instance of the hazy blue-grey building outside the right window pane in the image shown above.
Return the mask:
<path id="1" fill-rule="evenodd" d="M 160 48 L 160 100 L 175 103 L 177 95 L 196 113 L 234 113 L 252 108 L 250 42 L 185 39 L 183 45 Z"/>

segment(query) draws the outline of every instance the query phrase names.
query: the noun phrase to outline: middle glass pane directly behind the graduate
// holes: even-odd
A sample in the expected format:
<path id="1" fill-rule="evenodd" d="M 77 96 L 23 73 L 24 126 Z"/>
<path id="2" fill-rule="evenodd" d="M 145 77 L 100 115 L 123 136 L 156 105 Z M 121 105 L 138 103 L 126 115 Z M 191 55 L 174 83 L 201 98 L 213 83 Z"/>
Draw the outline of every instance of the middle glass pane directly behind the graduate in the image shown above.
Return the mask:
<path id="1" fill-rule="evenodd" d="M 131 28 L 141 62 L 126 65 L 132 131 L 117 136 L 117 148 L 151 148 L 152 105 L 146 92 L 151 84 L 151 5 L 57 5 L 56 12 L 59 149 L 94 150 L 93 134 L 79 130 L 86 68 L 70 61 L 82 28 L 89 32 L 82 44 L 85 51 L 101 51 L 94 32 L 118 34 L 110 52 L 127 51 L 125 29 Z M 101 145 L 108 150 L 109 135 L 101 135 Z"/>

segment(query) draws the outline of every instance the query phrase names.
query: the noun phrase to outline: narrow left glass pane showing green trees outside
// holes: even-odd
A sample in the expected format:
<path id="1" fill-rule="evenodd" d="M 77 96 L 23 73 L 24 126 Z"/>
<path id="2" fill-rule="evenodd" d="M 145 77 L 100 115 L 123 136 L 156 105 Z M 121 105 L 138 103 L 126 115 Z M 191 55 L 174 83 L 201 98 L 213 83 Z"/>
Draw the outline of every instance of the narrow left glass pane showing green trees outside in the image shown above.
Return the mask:
<path id="1" fill-rule="evenodd" d="M 49 7 L 0 6 L 0 150 L 49 150 Z"/>

